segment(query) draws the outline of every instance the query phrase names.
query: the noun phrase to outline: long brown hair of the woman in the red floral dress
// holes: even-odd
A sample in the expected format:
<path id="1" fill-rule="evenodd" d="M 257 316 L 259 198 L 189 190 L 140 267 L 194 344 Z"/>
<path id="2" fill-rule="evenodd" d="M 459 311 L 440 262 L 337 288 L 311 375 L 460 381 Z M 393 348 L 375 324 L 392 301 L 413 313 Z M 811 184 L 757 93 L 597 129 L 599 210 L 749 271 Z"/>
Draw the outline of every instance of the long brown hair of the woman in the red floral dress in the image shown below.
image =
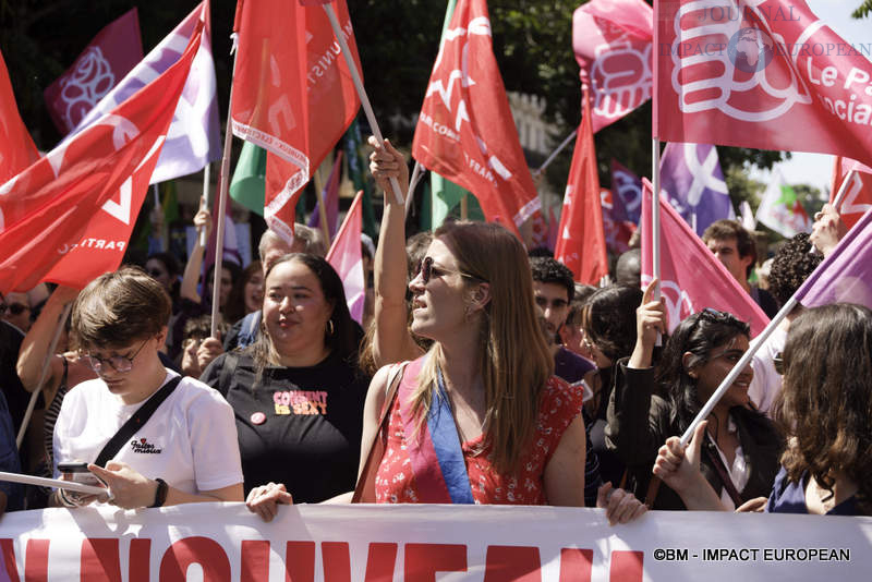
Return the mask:
<path id="1" fill-rule="evenodd" d="M 491 286 L 491 301 L 480 323 L 479 371 L 485 390 L 485 444 L 497 471 L 513 472 L 533 440 L 542 389 L 554 373 L 554 359 L 538 326 L 530 262 L 521 242 L 499 225 L 453 222 L 436 230 L 458 268 Z M 426 417 L 436 365 L 436 342 L 421 371 L 413 408 Z"/>

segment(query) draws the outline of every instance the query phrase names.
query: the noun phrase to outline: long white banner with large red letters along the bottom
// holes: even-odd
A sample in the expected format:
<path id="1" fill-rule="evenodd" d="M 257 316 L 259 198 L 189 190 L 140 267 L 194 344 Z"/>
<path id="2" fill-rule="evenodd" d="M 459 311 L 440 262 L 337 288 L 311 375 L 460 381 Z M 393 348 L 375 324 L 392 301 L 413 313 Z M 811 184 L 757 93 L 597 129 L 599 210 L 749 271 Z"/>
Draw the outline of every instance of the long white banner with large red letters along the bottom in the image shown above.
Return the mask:
<path id="1" fill-rule="evenodd" d="M 241 504 L 48 509 L 0 520 L 0 580 L 554 582 L 869 580 L 872 518 Z M 437 573 L 438 572 L 438 573 Z M 3 575 L 5 574 L 5 575 Z"/>

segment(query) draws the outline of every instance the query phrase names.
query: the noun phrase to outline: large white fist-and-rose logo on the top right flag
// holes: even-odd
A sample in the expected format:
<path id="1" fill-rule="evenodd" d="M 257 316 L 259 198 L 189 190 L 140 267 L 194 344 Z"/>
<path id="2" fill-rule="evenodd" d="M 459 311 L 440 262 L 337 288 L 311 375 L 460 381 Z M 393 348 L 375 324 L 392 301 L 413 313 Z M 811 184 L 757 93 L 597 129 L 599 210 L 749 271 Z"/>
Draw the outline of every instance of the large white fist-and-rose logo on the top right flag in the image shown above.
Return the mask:
<path id="1" fill-rule="evenodd" d="M 723 12 L 730 13 L 734 3 L 725 2 Z M 767 28 L 761 2 L 743 3 L 741 19 L 718 17 L 710 4 L 685 3 L 673 21 L 671 86 L 683 113 L 714 109 L 740 121 L 761 122 L 779 118 L 796 104 L 811 102 L 792 68 L 785 59 L 773 59 L 775 52 L 791 52 L 785 39 Z"/>

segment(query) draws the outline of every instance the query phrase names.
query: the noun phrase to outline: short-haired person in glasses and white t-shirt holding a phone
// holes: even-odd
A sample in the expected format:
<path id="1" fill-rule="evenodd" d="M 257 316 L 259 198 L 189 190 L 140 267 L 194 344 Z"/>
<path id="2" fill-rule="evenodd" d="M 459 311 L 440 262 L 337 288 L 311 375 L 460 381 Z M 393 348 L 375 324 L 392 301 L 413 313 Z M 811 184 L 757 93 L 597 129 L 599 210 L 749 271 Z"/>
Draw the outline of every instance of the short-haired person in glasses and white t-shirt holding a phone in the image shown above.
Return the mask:
<path id="1" fill-rule="evenodd" d="M 232 409 L 158 356 L 169 315 L 164 288 L 133 267 L 102 275 L 80 293 L 71 332 L 98 377 L 63 400 L 55 474 L 80 482 L 96 476 L 124 509 L 242 501 Z M 83 462 L 87 473 L 75 464 Z M 51 496 L 51 505 L 65 507 L 107 500 L 65 489 Z"/>

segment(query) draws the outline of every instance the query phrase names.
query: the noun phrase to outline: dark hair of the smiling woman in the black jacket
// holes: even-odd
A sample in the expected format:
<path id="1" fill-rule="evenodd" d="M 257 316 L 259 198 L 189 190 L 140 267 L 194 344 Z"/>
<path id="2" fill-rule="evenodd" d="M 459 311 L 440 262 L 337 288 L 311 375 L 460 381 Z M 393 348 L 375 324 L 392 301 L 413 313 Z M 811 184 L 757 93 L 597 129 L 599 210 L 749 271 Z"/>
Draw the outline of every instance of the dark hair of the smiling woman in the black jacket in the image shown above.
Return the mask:
<path id="1" fill-rule="evenodd" d="M 678 324 L 663 349 L 657 384 L 668 393 L 669 422 L 682 433 L 697 417 L 704 402 L 697 393 L 690 371 L 708 362 L 711 353 L 738 336 L 751 338 L 751 327 L 731 314 L 715 310 L 694 313 Z M 685 365 L 685 353 L 692 357 Z"/>

